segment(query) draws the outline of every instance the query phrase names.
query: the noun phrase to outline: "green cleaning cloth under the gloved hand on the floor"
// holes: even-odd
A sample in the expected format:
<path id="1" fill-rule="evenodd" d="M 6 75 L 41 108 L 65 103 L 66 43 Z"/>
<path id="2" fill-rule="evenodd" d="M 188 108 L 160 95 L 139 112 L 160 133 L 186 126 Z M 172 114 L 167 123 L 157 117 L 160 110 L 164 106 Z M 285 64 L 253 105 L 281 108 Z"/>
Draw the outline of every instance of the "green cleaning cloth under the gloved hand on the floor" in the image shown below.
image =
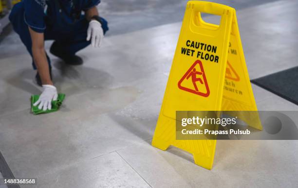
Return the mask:
<path id="1" fill-rule="evenodd" d="M 57 100 L 52 101 L 52 109 L 51 110 L 47 109 L 46 111 L 43 111 L 42 109 L 38 109 L 38 105 L 33 106 L 33 104 L 35 102 L 37 102 L 38 98 L 39 98 L 39 95 L 32 95 L 31 96 L 31 111 L 34 115 L 42 114 L 42 113 L 56 112 L 59 109 L 59 107 L 61 106 L 61 104 L 62 104 L 62 102 L 65 98 L 65 94 L 59 93 L 58 97 L 57 97 Z"/>

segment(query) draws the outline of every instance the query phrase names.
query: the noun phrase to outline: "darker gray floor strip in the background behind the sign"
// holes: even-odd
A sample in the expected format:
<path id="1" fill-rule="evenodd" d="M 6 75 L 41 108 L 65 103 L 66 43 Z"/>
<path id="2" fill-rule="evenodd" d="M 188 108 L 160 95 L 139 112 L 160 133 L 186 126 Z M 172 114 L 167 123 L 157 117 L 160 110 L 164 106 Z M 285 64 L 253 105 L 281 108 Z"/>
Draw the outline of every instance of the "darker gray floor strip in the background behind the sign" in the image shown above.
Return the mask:
<path id="1" fill-rule="evenodd" d="M 109 34 L 124 34 L 183 20 L 188 0 L 109 0 L 99 12 L 110 21 Z M 209 0 L 241 10 L 275 0 Z"/>

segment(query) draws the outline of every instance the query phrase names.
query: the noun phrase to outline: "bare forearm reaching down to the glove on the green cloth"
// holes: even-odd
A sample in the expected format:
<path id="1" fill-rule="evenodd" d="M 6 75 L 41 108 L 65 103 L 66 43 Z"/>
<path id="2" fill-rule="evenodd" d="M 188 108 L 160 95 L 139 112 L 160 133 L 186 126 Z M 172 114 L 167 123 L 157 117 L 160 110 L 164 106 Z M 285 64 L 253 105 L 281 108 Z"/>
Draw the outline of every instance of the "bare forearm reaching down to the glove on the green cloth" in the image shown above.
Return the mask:
<path id="1" fill-rule="evenodd" d="M 30 27 L 29 32 L 32 40 L 32 55 L 40 76 L 42 85 L 53 85 L 50 77 L 49 64 L 44 50 L 43 33 L 37 33 Z"/>

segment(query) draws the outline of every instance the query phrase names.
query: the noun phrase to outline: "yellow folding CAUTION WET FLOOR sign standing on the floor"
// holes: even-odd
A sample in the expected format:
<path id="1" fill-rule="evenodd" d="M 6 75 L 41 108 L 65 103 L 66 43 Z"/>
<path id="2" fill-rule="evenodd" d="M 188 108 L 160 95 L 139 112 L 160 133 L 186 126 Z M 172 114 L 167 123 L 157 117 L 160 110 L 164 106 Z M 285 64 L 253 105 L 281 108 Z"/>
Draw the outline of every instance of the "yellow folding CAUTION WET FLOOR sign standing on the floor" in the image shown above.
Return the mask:
<path id="1" fill-rule="evenodd" d="M 206 23 L 201 13 L 221 16 Z M 176 111 L 256 111 L 234 8 L 207 1 L 188 1 L 152 145 L 170 145 L 193 154 L 211 169 L 216 140 L 176 140 Z M 256 114 L 256 113 L 254 113 Z M 239 117 L 254 128 L 260 121 Z M 251 117 L 250 117 L 251 118 Z M 246 120 L 247 119 L 247 120 Z M 256 117 L 259 120 L 259 117 Z"/>

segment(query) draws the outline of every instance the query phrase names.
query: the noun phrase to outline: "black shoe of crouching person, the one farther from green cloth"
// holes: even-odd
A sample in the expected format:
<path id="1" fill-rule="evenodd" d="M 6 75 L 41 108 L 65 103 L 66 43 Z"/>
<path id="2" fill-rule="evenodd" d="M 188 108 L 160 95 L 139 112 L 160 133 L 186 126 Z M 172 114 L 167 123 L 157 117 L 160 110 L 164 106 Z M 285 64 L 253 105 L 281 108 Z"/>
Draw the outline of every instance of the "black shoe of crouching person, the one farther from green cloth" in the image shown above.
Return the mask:
<path id="1" fill-rule="evenodd" d="M 56 41 L 52 44 L 52 46 L 50 48 L 50 52 L 53 55 L 62 59 L 68 65 L 82 65 L 83 64 L 83 60 L 79 56 L 63 53 L 63 49 L 61 49 L 61 47 L 58 46 Z"/>

